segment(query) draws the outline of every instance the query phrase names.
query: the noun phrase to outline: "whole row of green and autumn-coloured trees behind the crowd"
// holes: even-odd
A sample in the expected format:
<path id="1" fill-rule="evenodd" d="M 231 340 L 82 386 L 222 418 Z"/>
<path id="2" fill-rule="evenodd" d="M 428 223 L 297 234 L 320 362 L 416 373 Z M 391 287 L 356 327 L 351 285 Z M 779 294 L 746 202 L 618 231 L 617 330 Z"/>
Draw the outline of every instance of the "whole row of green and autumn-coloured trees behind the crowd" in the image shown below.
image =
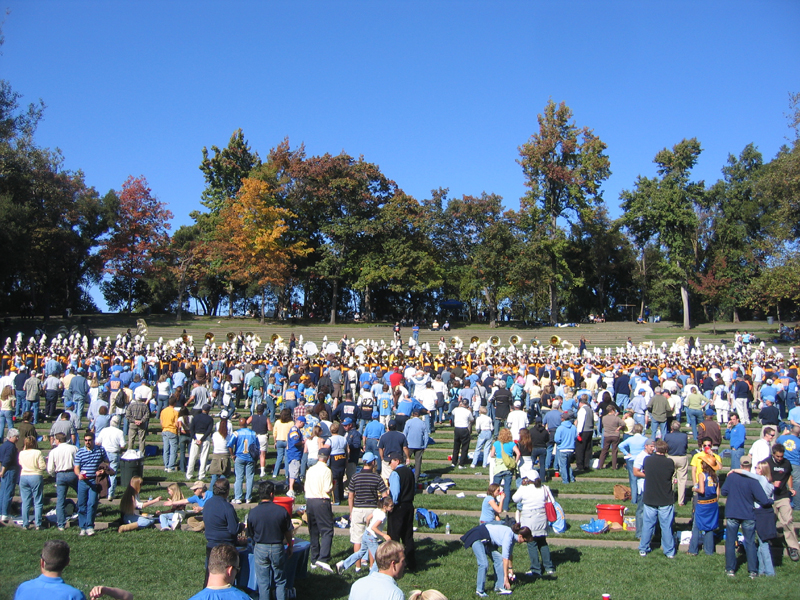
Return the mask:
<path id="1" fill-rule="evenodd" d="M 193 223 L 144 176 L 100 195 L 58 150 L 34 141 L 44 105 L 20 106 L 0 82 L 2 310 L 172 312 L 189 299 L 207 315 L 268 309 L 335 322 L 500 315 L 526 323 L 589 314 L 635 319 L 791 316 L 800 299 L 800 95 L 793 139 L 771 161 L 748 144 L 711 185 L 683 139 L 656 153 L 656 175 L 620 194 L 609 216 L 606 144 L 550 100 L 519 147 L 518 210 L 489 192 L 406 194 L 378 165 L 344 152 L 308 156 L 283 140 L 264 159 L 242 130 L 202 149 L 205 189 Z M 460 303 L 460 304 L 459 304 Z M 297 308 L 297 305 L 301 305 Z"/>

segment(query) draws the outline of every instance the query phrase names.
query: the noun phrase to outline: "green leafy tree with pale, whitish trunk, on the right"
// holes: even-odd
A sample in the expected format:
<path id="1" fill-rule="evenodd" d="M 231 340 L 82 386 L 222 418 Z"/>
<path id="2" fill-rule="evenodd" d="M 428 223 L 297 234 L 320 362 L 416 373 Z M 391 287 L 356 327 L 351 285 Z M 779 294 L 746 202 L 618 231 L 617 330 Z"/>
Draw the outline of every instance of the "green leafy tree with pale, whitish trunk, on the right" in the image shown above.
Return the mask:
<path id="1" fill-rule="evenodd" d="M 654 159 L 658 176 L 639 176 L 633 191 L 620 194 L 623 223 L 639 248 L 655 239 L 667 255 L 669 271 L 680 288 L 683 328 L 691 326 L 689 275 L 694 271 L 699 225 L 695 206 L 702 202 L 703 183 L 690 181 L 692 167 L 700 155 L 700 142 L 682 140 L 671 150 L 664 148 Z"/>

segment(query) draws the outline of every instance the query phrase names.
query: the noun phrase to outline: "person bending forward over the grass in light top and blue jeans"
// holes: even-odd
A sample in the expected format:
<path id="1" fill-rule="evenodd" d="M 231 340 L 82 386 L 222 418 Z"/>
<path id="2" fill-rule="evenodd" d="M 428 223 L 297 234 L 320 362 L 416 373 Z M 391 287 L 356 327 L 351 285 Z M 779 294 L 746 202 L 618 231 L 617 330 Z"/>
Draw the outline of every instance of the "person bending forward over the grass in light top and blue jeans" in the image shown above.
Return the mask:
<path id="1" fill-rule="evenodd" d="M 514 542 L 521 544 L 532 541 L 531 530 L 519 523 L 514 523 L 512 527 L 500 524 L 478 525 L 461 536 L 464 548 L 472 548 L 478 561 L 478 581 L 475 588 L 478 597 L 485 598 L 487 595 L 484 589 L 486 574 L 489 571 L 487 550 L 491 552 L 494 573 L 497 578 L 494 591 L 498 594 L 508 595 L 511 593 L 511 578 L 514 573 L 512 559 Z"/>

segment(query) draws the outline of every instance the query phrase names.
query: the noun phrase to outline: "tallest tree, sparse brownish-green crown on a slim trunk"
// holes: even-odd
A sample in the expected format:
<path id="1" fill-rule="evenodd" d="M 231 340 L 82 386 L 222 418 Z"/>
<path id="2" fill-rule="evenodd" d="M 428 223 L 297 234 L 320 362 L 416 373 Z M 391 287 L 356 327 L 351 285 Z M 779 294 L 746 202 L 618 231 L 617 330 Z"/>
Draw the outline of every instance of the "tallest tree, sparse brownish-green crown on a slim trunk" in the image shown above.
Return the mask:
<path id="1" fill-rule="evenodd" d="M 519 164 L 528 193 L 521 199 L 521 211 L 540 220 L 530 226 L 543 228 L 542 250 L 550 270 L 550 322 L 559 320 L 559 284 L 564 277 L 565 234 L 559 219 L 585 220 L 591 208 L 603 202 L 600 187 L 611 174 L 606 145 L 588 127 L 579 128 L 572 110 L 563 102 L 549 100 L 538 116 L 539 131 L 520 146 Z M 531 207 L 538 210 L 531 211 Z"/>

